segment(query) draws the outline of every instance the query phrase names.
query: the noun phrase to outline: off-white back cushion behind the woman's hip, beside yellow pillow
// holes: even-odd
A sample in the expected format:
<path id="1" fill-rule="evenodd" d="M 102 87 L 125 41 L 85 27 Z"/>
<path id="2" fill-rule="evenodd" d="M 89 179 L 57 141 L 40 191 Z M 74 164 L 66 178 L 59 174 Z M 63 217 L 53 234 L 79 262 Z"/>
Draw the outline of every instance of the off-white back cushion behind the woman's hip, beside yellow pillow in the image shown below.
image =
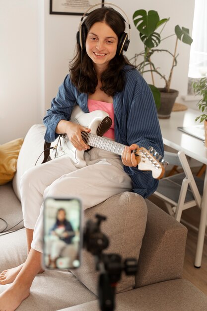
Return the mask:
<path id="1" fill-rule="evenodd" d="M 19 192 L 20 178 L 28 168 L 35 165 L 38 157 L 43 152 L 45 130 L 46 128 L 42 124 L 33 125 L 27 132 L 24 139 L 24 143 L 20 150 L 17 160 L 16 174 L 13 178 L 13 189 L 20 201 L 21 201 L 21 196 Z M 37 165 L 41 164 L 43 158 L 44 154 L 40 156 Z"/>

